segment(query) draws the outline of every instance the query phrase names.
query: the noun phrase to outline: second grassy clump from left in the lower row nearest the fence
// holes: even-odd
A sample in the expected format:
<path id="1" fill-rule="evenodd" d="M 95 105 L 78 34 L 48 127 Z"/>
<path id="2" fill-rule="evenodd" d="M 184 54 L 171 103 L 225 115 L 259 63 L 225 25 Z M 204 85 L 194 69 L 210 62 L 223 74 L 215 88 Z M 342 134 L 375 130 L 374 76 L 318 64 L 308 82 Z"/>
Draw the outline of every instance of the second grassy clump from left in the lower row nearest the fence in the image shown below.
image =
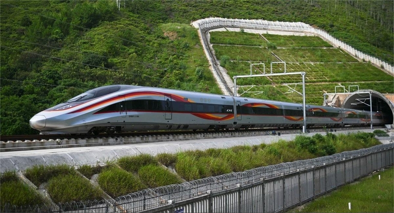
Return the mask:
<path id="1" fill-rule="evenodd" d="M 48 181 L 48 193 L 55 203 L 100 199 L 100 191 L 78 174 L 59 175 Z"/>

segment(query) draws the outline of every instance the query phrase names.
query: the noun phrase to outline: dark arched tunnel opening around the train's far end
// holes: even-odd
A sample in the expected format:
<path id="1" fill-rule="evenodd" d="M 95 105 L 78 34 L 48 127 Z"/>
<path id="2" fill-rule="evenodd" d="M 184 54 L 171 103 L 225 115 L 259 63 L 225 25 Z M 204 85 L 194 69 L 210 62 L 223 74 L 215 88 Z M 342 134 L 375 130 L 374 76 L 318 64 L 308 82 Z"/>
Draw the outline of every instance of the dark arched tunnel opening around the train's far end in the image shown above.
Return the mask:
<path id="1" fill-rule="evenodd" d="M 394 104 L 387 97 L 374 90 L 359 90 L 362 94 L 351 94 L 343 100 L 342 108 L 370 111 L 370 95 L 372 93 L 372 111 L 381 112 L 385 119 L 388 120 L 387 124 L 394 125 Z M 356 92 L 356 93 L 357 93 Z M 368 92 L 368 93 L 365 93 Z M 368 104 L 368 105 L 367 105 Z"/>

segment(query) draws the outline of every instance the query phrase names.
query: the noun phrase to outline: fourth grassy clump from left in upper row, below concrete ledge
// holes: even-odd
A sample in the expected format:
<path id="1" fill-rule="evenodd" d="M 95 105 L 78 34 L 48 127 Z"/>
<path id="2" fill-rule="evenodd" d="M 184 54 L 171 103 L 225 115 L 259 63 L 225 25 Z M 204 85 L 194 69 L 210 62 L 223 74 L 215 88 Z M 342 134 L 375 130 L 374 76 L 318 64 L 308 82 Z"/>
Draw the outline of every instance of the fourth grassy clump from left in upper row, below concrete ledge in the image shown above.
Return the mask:
<path id="1" fill-rule="evenodd" d="M 154 156 L 149 154 L 140 154 L 136 156 L 124 156 L 118 159 L 118 165 L 128 171 L 137 173 L 139 168 L 153 164 L 157 165 L 158 161 L 155 159 Z"/>

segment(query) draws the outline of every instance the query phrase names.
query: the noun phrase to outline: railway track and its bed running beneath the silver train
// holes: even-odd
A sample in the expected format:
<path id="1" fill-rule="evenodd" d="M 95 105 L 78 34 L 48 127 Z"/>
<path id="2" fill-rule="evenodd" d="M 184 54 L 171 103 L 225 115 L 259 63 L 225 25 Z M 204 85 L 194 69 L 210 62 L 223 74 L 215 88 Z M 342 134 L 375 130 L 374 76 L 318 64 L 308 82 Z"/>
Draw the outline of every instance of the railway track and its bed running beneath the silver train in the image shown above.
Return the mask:
<path id="1" fill-rule="evenodd" d="M 379 127 L 375 127 L 379 128 Z M 383 128 L 383 127 L 380 127 Z M 336 132 L 369 129 L 368 127 L 338 127 L 338 128 L 308 128 L 308 132 Z M 2 136 L 0 138 L 0 152 L 57 149 L 86 146 L 107 146 L 133 143 L 152 143 L 177 140 L 198 140 L 214 138 L 268 136 L 275 131 L 276 136 L 283 134 L 300 134 L 300 129 L 249 129 L 232 131 L 156 131 L 136 132 L 113 135 L 27 135 L 27 136 Z"/>

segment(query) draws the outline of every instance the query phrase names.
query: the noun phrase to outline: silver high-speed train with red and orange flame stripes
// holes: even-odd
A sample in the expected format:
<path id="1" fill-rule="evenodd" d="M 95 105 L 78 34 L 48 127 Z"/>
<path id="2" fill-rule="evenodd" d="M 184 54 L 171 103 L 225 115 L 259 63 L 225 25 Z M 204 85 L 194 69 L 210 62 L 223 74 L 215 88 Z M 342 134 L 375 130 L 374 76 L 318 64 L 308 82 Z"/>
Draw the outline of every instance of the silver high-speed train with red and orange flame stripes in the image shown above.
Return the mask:
<path id="1" fill-rule="evenodd" d="M 373 112 L 373 124 L 385 116 Z M 361 126 L 371 112 L 306 105 L 311 126 Z M 302 104 L 172 89 L 110 85 L 89 90 L 30 119 L 40 134 L 302 127 Z"/>

